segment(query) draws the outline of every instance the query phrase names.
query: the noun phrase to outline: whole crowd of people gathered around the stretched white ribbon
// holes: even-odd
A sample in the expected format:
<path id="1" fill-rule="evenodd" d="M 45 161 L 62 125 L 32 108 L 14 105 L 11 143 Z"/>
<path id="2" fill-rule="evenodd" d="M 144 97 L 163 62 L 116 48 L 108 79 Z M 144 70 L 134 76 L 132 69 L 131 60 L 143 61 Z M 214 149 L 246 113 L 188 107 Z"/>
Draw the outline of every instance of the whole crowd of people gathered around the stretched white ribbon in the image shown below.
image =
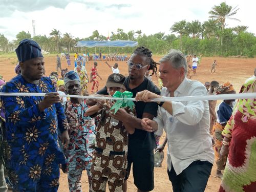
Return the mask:
<path id="1" fill-rule="evenodd" d="M 225 99 L 218 106 L 216 100 L 152 101 L 236 93 L 230 82 L 190 80 L 200 62 L 196 55 L 170 50 L 157 63 L 152 51 L 138 47 L 127 61 L 126 77 L 118 63 L 105 62 L 112 73 L 98 90 L 97 77 L 102 78 L 97 61 L 89 78 L 87 59 L 82 63 L 76 53 L 75 68 L 69 71 L 61 68 L 69 55 L 57 55 L 56 72 L 46 77 L 35 41 L 24 39 L 15 51 L 17 76 L 8 82 L 0 76 L 1 92 L 31 95 L 1 96 L 1 191 L 7 191 L 7 183 L 14 191 L 57 191 L 60 169 L 67 174 L 70 191 L 81 191 L 83 170 L 89 191 L 105 191 L 106 184 L 110 191 L 127 191 L 131 171 L 137 191 L 151 191 L 154 152 L 166 144 L 166 174 L 173 191 L 204 191 L 214 162 L 222 179 L 219 191 L 256 191 L 256 98 Z M 215 60 L 211 72 L 216 66 Z M 152 81 L 157 70 L 158 87 Z M 256 92 L 255 76 L 256 69 L 239 93 Z M 63 97 L 88 96 L 89 82 L 91 95 L 110 99 Z M 134 105 L 114 112 L 116 93 L 131 94 Z M 163 131 L 166 137 L 159 144 Z"/>

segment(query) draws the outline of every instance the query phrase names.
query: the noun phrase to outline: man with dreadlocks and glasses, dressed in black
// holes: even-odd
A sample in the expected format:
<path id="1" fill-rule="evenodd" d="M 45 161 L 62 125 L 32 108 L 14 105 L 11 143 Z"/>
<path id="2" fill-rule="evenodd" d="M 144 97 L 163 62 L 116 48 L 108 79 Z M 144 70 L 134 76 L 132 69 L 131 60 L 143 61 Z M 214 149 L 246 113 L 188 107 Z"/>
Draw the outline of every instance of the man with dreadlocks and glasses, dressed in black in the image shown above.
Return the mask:
<path id="1" fill-rule="evenodd" d="M 143 90 L 150 90 L 153 93 L 160 95 L 160 90 L 155 84 L 148 80 L 144 75 L 146 70 L 152 70 L 152 75 L 157 72 L 157 64 L 152 59 L 152 51 L 145 47 L 138 47 L 127 61 L 129 76 L 125 77 L 124 86 L 126 91 L 133 93 L 133 97 Z M 98 91 L 97 94 L 108 95 L 106 87 Z M 103 108 L 103 102 L 100 100 L 87 100 L 89 105 L 94 105 L 96 102 Z M 113 118 L 123 122 L 124 126 L 133 126 L 135 133 L 129 135 L 128 152 L 123 156 L 127 157 L 127 175 L 130 175 L 131 165 L 133 164 L 134 184 L 138 191 L 151 191 L 154 189 L 154 148 L 156 140 L 154 133 L 146 132 L 142 129 L 141 119 L 153 119 L 157 115 L 158 105 L 155 102 L 137 101 L 135 109 L 137 118 L 131 116 L 124 110 L 119 109 Z"/>

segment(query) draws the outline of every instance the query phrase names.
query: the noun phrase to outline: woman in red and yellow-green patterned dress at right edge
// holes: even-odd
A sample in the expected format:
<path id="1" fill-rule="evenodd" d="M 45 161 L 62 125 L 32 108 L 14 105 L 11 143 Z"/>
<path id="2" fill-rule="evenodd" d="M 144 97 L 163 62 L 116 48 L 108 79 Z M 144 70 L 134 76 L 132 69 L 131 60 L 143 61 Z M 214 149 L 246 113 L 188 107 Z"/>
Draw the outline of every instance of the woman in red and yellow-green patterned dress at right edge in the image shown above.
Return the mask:
<path id="1" fill-rule="evenodd" d="M 240 93 L 255 93 L 256 80 Z M 256 191 L 256 98 L 239 99 L 224 131 L 220 156 L 228 154 L 219 192 Z"/>

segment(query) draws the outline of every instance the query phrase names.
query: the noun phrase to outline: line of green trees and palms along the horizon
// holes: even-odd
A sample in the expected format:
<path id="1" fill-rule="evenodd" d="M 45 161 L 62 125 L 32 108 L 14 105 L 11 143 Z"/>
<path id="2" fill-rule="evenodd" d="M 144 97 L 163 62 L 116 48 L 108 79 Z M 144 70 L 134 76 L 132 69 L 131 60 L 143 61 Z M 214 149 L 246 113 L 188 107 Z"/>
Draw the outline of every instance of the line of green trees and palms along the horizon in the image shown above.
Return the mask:
<path id="1" fill-rule="evenodd" d="M 163 32 L 145 35 L 141 30 L 124 32 L 117 29 L 111 32 L 110 40 L 136 40 L 139 46 L 145 46 L 154 54 L 165 54 L 169 49 L 179 49 L 185 54 L 202 54 L 204 56 L 248 56 L 256 55 L 256 36 L 247 32 L 247 26 L 227 28 L 226 20 L 234 18 L 239 8 L 227 5 L 225 2 L 215 5 L 209 11 L 209 19 L 201 23 L 199 20 L 187 22 L 185 19 L 175 22 L 170 26 L 171 34 Z M 49 35 L 37 35 L 31 37 L 29 32 L 21 31 L 16 39 L 9 41 L 4 34 L 0 34 L 0 49 L 3 52 L 14 51 L 18 42 L 24 38 L 38 42 L 42 49 L 48 52 L 99 52 L 99 48 L 74 48 L 79 40 L 107 40 L 106 36 L 100 35 L 98 30 L 92 32 L 89 37 L 78 38 L 70 33 L 61 33 L 53 29 Z M 102 53 L 118 52 L 119 54 L 131 53 L 134 48 L 100 48 Z"/>

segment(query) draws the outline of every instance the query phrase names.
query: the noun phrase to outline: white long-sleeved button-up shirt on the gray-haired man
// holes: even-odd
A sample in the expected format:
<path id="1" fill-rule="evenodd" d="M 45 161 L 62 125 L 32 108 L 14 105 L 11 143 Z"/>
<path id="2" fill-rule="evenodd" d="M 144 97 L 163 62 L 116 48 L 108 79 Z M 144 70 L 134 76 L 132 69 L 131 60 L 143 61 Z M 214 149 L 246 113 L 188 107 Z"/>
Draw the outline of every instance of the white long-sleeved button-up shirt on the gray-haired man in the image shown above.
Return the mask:
<path id="1" fill-rule="evenodd" d="M 161 95 L 169 97 L 167 88 L 161 90 Z M 185 78 L 177 90 L 175 97 L 207 95 L 204 85 L 199 81 Z M 201 160 L 214 163 L 214 150 L 212 149 L 209 134 L 209 105 L 208 101 L 172 101 L 173 115 L 163 107 L 158 108 L 158 123 L 156 135 L 167 134 L 167 165 L 176 174 L 180 174 L 192 162 Z"/>

